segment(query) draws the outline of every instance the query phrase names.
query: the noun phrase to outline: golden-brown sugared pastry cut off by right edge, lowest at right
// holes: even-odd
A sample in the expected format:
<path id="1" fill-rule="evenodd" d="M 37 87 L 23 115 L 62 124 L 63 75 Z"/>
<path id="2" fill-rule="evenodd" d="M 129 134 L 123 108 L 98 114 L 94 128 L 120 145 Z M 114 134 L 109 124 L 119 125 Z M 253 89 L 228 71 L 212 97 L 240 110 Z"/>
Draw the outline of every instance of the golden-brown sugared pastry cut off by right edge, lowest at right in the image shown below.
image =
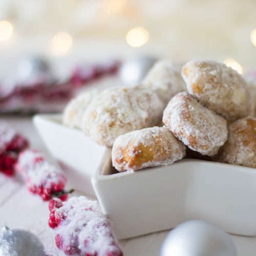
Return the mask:
<path id="1" fill-rule="evenodd" d="M 256 168 L 256 118 L 246 117 L 228 127 L 228 140 L 218 153 L 223 163 Z"/>

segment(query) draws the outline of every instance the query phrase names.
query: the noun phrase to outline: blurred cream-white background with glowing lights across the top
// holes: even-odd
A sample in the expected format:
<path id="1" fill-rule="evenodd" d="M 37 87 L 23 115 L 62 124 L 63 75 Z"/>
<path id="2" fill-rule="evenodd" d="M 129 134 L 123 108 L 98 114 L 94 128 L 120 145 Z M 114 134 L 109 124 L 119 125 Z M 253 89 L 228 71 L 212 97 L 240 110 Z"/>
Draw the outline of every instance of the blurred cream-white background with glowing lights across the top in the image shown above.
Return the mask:
<path id="1" fill-rule="evenodd" d="M 28 55 L 63 73 L 81 59 L 138 55 L 256 68 L 255 0 L 0 0 L 0 20 L 0 77 Z"/>

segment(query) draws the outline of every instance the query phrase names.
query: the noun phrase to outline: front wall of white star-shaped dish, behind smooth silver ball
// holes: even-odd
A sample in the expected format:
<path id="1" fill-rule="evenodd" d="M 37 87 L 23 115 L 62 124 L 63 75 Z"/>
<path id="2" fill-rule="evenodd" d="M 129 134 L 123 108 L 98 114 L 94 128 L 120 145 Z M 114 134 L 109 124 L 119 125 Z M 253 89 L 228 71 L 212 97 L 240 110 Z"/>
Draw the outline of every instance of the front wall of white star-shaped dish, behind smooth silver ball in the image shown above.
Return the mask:
<path id="1" fill-rule="evenodd" d="M 202 219 L 227 232 L 256 234 L 256 169 L 184 159 L 168 166 L 115 173 L 105 152 L 92 177 L 117 238 L 173 228 Z"/>

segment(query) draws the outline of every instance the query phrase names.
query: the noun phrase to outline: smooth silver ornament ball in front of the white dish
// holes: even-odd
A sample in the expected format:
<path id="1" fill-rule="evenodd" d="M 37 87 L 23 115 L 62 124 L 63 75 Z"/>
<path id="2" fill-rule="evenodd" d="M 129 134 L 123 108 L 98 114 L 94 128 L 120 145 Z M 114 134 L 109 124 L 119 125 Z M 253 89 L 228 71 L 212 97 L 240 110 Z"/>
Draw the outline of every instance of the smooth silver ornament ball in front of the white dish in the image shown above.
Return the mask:
<path id="1" fill-rule="evenodd" d="M 165 238 L 160 256 L 236 256 L 228 233 L 200 220 L 184 222 Z"/>

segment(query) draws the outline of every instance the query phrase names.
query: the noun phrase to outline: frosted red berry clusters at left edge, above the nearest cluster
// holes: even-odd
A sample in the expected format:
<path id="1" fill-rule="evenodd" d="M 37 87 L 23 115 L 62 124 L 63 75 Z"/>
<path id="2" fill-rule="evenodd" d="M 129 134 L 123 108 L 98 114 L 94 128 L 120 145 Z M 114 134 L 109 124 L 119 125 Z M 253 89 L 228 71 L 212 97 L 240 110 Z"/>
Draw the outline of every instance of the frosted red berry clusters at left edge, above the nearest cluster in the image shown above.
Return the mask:
<path id="1" fill-rule="evenodd" d="M 29 142 L 6 122 L 0 122 L 0 172 L 26 180 L 28 189 L 47 201 L 58 197 L 65 201 L 74 189 L 65 190 L 67 177 L 49 164 L 39 151 L 28 149 Z"/>

